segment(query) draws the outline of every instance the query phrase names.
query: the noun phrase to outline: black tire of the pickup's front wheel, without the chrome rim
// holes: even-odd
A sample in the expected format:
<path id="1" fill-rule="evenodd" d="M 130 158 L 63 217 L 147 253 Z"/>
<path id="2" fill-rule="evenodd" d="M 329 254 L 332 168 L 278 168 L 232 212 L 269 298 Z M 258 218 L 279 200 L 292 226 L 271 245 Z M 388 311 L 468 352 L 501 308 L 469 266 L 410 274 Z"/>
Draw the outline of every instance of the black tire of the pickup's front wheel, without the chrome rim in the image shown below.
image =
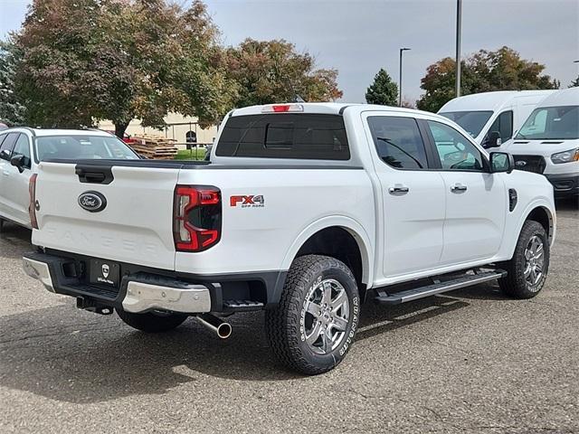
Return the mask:
<path id="1" fill-rule="evenodd" d="M 528 251 L 529 242 L 537 237 L 542 242 L 542 274 L 536 283 L 529 282 L 525 276 L 528 267 L 526 251 Z M 549 240 L 545 228 L 539 222 L 527 220 L 523 224 L 520 234 L 518 235 L 517 247 L 513 258 L 498 263 L 498 268 L 506 269 L 508 274 L 504 278 L 498 279 L 498 285 L 502 291 L 510 297 L 515 298 L 532 298 L 535 297 L 545 285 L 546 274 L 549 269 Z"/>

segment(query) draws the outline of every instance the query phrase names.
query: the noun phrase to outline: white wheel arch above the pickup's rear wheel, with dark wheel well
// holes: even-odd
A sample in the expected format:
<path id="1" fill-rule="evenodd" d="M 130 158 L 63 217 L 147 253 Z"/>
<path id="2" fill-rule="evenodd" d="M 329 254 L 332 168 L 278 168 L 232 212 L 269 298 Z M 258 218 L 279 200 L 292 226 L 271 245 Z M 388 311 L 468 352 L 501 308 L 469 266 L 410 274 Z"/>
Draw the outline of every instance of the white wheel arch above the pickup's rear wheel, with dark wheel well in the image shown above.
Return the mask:
<path id="1" fill-rule="evenodd" d="M 325 217 L 299 233 L 280 269 L 289 269 L 294 259 L 321 254 L 342 260 L 354 273 L 361 290 L 372 282 L 372 244 L 361 224 L 346 216 Z"/>

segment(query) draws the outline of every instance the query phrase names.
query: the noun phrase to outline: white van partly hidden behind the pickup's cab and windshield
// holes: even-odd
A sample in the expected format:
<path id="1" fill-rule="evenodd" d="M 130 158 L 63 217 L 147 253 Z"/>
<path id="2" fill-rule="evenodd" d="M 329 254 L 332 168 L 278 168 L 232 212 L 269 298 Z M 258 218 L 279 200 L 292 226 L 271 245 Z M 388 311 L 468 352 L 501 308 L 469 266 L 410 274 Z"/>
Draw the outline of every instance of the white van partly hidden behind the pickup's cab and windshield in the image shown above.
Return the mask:
<path id="1" fill-rule="evenodd" d="M 497 146 L 513 137 L 536 105 L 553 92 L 555 90 L 474 93 L 451 99 L 438 113 L 459 124 L 479 145 Z"/>

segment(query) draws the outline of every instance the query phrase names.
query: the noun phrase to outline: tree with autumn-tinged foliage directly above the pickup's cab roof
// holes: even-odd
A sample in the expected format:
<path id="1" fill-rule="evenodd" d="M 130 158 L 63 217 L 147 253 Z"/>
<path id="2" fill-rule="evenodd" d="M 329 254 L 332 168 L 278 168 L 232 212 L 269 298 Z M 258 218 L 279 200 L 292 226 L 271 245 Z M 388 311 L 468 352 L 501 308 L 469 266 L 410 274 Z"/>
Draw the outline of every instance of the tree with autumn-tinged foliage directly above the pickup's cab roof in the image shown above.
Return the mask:
<path id="1" fill-rule="evenodd" d="M 236 107 L 292 101 L 299 96 L 307 101 L 341 98 L 337 71 L 315 69 L 308 52 L 296 52 L 284 40 L 246 39 L 224 53 L 228 78 L 237 83 Z"/>

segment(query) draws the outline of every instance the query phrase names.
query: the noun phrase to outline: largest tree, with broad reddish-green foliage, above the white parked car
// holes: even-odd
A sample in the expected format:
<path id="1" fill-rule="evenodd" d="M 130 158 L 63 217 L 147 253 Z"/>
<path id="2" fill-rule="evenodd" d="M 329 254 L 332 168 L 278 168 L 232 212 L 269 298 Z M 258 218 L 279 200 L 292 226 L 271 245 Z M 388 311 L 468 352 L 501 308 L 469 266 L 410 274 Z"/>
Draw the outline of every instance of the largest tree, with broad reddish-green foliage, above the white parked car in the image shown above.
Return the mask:
<path id="1" fill-rule="evenodd" d="M 169 111 L 214 123 L 235 95 L 217 36 L 200 0 L 34 0 L 15 37 L 14 87 L 33 125 L 107 118 L 121 137 L 131 119 L 162 127 Z"/>

